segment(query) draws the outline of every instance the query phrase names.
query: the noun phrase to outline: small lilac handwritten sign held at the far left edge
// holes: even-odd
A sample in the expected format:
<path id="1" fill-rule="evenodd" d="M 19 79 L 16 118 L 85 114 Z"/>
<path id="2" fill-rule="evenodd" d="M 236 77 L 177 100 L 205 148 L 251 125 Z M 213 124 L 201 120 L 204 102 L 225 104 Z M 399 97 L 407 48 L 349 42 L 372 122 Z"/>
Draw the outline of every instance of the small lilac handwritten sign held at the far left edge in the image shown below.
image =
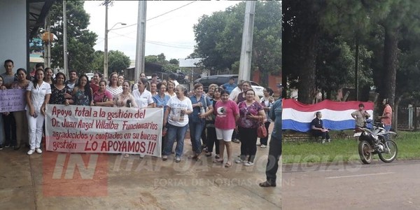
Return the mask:
<path id="1" fill-rule="evenodd" d="M 25 110 L 25 90 L 0 90 L 0 113 Z"/>

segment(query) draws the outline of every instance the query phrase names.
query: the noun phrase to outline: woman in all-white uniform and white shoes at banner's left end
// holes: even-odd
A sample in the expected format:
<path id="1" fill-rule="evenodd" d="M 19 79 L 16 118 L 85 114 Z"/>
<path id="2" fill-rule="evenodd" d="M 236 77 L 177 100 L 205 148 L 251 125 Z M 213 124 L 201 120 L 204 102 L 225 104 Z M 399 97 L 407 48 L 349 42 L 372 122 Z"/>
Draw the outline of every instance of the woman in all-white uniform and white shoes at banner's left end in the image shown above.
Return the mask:
<path id="1" fill-rule="evenodd" d="M 29 145 L 31 149 L 28 155 L 42 153 L 41 151 L 41 138 L 42 126 L 45 119 L 45 106 L 50 101 L 51 85 L 43 81 L 44 71 L 37 69 L 35 71 L 34 81 L 30 82 L 27 87 L 27 120 L 29 127 Z"/>

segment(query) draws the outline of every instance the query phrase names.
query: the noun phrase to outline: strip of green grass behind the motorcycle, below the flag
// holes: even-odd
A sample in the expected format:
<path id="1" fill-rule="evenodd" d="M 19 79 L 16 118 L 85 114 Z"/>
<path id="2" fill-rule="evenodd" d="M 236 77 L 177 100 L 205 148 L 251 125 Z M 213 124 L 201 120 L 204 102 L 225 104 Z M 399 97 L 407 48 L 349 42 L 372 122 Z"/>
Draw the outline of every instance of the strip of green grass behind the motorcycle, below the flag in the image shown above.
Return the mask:
<path id="1" fill-rule="evenodd" d="M 420 132 L 398 132 L 393 138 L 398 146 L 397 160 L 420 159 Z M 332 139 L 330 143 L 283 142 L 283 163 L 348 162 L 360 160 L 358 141 Z M 377 160 L 378 155 L 374 155 Z"/>

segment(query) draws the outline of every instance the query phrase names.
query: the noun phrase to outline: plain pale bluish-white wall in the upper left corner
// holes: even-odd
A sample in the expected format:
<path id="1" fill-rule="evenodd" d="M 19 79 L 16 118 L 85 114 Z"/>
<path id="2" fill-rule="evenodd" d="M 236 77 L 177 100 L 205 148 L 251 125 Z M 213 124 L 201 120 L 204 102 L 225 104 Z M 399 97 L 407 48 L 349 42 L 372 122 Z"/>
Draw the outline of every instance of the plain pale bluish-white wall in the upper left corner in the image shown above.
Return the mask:
<path id="1" fill-rule="evenodd" d="M 13 71 L 27 69 L 27 8 L 25 0 L 0 0 L 0 73 L 3 63 L 12 59 Z"/>

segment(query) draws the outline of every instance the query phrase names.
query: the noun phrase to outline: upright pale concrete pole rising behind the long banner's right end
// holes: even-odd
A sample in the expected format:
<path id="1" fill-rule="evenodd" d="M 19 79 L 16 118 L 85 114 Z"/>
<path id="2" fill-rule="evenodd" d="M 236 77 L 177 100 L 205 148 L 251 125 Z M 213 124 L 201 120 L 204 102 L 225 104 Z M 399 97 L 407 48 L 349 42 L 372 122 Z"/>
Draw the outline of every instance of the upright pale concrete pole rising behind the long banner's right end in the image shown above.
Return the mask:
<path id="1" fill-rule="evenodd" d="M 139 1 L 139 13 L 137 15 L 137 45 L 136 45 L 136 67 L 134 69 L 134 80 L 140 78 L 144 72 L 144 48 L 146 44 L 146 8 L 147 1 Z"/>

